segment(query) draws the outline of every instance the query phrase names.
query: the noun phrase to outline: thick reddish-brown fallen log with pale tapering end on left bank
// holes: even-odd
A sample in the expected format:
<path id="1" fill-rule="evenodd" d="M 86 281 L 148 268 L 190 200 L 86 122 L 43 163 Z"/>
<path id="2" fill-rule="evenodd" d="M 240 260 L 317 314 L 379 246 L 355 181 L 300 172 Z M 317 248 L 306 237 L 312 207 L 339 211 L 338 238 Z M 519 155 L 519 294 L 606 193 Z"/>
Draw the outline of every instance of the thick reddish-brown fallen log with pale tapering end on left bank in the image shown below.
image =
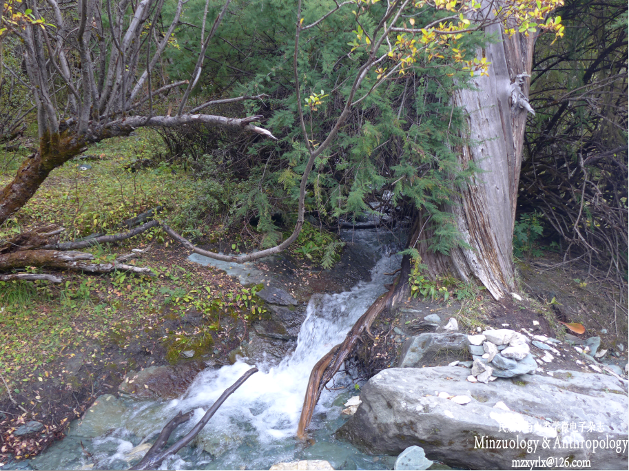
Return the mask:
<path id="1" fill-rule="evenodd" d="M 12 270 L 24 266 L 49 266 L 50 268 L 90 271 L 92 273 L 111 273 L 114 270 L 133 271 L 144 275 L 153 275 L 149 268 L 127 265 L 120 262 L 90 263 L 94 260 L 91 253 L 57 250 L 22 250 L 0 255 L 0 269 Z"/>

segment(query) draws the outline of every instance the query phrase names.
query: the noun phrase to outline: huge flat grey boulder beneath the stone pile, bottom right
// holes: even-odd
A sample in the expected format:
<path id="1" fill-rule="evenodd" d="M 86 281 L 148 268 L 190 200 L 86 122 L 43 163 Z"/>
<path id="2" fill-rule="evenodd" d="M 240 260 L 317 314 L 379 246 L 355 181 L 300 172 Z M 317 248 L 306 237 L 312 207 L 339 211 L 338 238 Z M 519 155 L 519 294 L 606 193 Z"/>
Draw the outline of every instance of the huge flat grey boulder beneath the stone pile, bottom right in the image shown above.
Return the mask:
<path id="1" fill-rule="evenodd" d="M 556 371 L 482 384 L 466 381 L 468 373 L 455 366 L 383 370 L 361 388 L 362 404 L 337 436 L 371 453 L 420 446 L 429 459 L 465 469 L 511 469 L 515 459 L 550 457 L 627 469 L 627 381 Z M 440 392 L 447 394 L 437 397 Z M 456 404 L 452 396 L 471 401 Z M 497 448 L 503 440 L 506 448 Z M 596 450 L 593 440 L 599 440 Z M 612 440 L 620 452 L 607 448 Z"/>

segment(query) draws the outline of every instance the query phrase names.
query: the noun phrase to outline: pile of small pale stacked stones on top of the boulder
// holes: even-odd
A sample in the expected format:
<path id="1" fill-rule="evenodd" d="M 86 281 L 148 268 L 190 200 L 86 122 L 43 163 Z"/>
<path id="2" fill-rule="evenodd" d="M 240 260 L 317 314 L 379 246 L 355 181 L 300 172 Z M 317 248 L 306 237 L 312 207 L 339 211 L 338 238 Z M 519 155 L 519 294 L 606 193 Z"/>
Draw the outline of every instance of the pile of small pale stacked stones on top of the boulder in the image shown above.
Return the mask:
<path id="1" fill-rule="evenodd" d="M 496 378 L 510 378 L 531 373 L 537 363 L 530 354 L 530 339 L 522 333 L 501 328 L 468 335 L 470 353 L 474 359 L 468 381 L 487 383 Z"/>

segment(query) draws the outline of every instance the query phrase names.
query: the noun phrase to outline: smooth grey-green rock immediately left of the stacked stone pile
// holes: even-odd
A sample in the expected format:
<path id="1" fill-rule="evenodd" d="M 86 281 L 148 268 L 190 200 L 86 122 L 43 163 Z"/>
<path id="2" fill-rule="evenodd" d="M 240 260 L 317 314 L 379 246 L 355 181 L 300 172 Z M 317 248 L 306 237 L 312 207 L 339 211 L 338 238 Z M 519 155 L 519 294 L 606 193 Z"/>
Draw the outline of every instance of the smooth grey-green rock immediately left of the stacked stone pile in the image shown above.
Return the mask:
<path id="1" fill-rule="evenodd" d="M 467 335 L 460 333 L 423 333 L 404 342 L 398 367 L 420 367 L 446 350 L 448 355 L 453 352 L 455 355 L 464 356 L 468 344 Z"/>

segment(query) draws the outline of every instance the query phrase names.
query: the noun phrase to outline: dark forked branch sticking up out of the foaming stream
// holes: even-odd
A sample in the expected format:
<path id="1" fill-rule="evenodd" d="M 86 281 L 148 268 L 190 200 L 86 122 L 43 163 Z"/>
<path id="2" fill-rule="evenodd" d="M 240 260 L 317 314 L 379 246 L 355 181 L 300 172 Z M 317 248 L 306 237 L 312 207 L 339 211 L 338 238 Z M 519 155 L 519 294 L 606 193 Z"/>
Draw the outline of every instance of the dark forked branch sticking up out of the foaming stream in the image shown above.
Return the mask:
<path id="1" fill-rule="evenodd" d="M 212 416 L 216 413 L 223 402 L 225 402 L 225 399 L 227 399 L 227 397 L 229 397 L 236 389 L 240 388 L 240 386 L 242 386 L 242 384 L 247 381 L 247 379 L 249 379 L 251 375 L 257 372 L 258 368 L 251 368 L 251 370 L 247 371 L 247 373 L 241 376 L 234 384 L 229 386 L 229 388 L 227 388 L 225 392 L 223 392 L 223 394 L 220 395 L 218 399 L 216 399 L 216 402 L 212 404 L 212 407 L 210 407 L 207 412 L 205 412 L 203 419 L 200 419 L 200 421 L 198 421 L 198 423 L 192 428 L 192 430 L 190 430 L 184 437 L 176 441 L 167 450 L 160 451 L 161 448 L 165 446 L 168 437 L 175 430 L 175 428 L 181 423 L 188 421 L 189 418 L 192 417 L 192 410 L 183 415 L 181 414 L 181 412 L 179 412 L 178 415 L 174 417 L 174 419 L 166 424 L 151 449 L 147 452 L 147 454 L 145 454 L 144 458 L 132 469 L 138 471 L 154 469 L 171 454 L 175 454 L 176 452 L 181 450 L 181 448 L 185 447 L 188 443 L 192 441 L 192 439 L 194 439 L 194 437 L 198 435 L 201 430 L 203 430 L 203 427 L 207 425 L 209 419 L 212 419 Z"/>

